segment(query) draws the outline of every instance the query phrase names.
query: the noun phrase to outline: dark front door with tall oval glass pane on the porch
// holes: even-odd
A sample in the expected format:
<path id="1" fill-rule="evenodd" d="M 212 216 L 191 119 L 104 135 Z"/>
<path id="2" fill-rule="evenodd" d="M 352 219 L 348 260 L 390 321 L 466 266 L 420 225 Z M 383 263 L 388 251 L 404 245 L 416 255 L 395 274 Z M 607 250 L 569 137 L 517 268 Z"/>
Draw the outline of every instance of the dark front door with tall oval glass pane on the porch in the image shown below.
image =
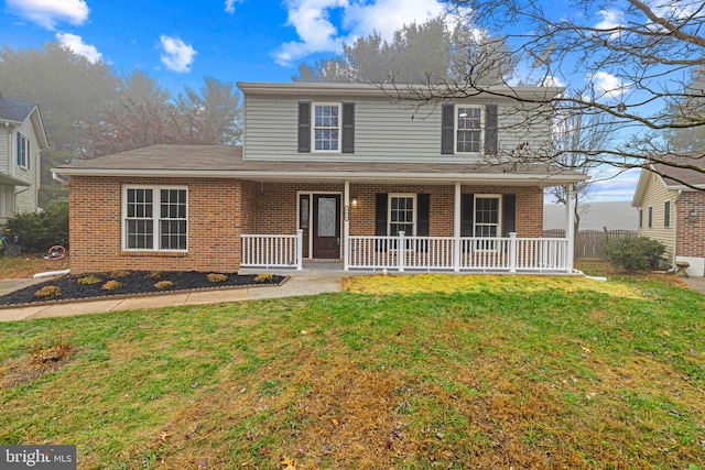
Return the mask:
<path id="1" fill-rule="evenodd" d="M 340 195 L 314 194 L 313 258 L 340 259 Z"/>

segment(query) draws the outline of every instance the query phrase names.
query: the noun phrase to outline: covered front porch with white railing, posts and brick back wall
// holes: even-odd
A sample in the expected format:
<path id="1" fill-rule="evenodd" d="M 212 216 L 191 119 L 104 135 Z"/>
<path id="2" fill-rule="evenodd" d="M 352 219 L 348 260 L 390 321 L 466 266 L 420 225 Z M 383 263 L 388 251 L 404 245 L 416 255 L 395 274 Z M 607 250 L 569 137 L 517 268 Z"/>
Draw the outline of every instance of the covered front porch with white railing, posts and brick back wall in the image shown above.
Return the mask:
<path id="1" fill-rule="evenodd" d="M 414 186 L 397 186 L 388 197 L 390 185 L 355 186 L 355 193 L 348 181 L 341 186 L 339 193 L 335 187 L 313 186 L 305 190 L 291 188 L 289 193 L 279 190 L 295 201 L 296 228 L 286 234 L 280 234 L 288 231 L 284 227 L 280 233 L 262 230 L 241 234 L 240 266 L 303 270 L 304 263 L 327 258 L 343 271 L 573 272 L 572 197 L 566 207 L 566 237 L 543 238 L 536 237 L 542 232 L 540 188 L 518 186 L 508 190 L 456 182 L 449 187 L 429 187 L 431 195 Z M 272 193 L 278 193 L 274 188 L 280 187 L 271 187 Z M 568 185 L 570 193 L 572 189 Z M 269 204 L 272 199 L 263 201 Z M 402 207 L 393 206 L 394 199 L 406 199 L 405 208 L 413 210 L 406 215 L 393 212 Z M 285 214 L 281 198 L 274 200 L 281 212 L 273 207 L 258 207 L 258 214 Z M 474 200 L 489 204 L 480 207 Z M 292 216 L 265 217 L 265 227 L 271 227 L 272 220 L 289 217 Z M 408 232 L 405 227 L 413 231 Z M 434 234 L 430 236 L 430 231 Z M 317 241 L 325 242 L 325 251 L 315 249 Z M 318 255 L 322 252 L 332 255 Z"/>

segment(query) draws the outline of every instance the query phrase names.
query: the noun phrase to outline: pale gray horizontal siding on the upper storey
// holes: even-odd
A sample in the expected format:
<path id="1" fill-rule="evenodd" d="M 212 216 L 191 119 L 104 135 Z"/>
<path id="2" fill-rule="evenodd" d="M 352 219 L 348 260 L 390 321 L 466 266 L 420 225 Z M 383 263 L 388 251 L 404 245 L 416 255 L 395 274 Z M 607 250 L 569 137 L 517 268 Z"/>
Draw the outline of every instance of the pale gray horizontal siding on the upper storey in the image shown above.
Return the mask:
<path id="1" fill-rule="evenodd" d="M 297 103 L 355 102 L 355 153 L 299 153 Z M 458 101 L 481 105 L 485 101 Z M 521 128 L 523 118 L 513 106 L 499 106 L 499 147 L 509 151 L 522 142 L 532 142 L 539 149 L 540 139 L 547 142 L 547 122 L 533 127 L 533 133 Z M 424 106 L 417 112 L 388 98 L 355 98 L 332 100 L 302 96 L 296 99 L 281 96 L 247 96 L 245 99 L 245 159 L 246 160 L 333 160 L 355 162 L 464 161 L 468 154 L 441 154 L 441 106 Z"/>

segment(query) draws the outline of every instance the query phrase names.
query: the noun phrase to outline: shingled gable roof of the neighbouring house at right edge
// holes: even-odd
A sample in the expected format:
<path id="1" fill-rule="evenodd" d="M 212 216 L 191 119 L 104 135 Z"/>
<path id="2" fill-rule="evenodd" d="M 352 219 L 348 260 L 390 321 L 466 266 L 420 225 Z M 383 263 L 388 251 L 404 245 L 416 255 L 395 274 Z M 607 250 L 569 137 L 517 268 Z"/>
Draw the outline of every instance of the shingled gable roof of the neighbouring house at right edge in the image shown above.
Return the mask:
<path id="1" fill-rule="evenodd" d="M 633 207 L 641 204 L 651 175 L 655 175 L 668 190 L 705 189 L 705 155 L 670 154 L 660 159 L 660 162 L 650 163 L 647 168 L 642 168 L 631 200 Z"/>

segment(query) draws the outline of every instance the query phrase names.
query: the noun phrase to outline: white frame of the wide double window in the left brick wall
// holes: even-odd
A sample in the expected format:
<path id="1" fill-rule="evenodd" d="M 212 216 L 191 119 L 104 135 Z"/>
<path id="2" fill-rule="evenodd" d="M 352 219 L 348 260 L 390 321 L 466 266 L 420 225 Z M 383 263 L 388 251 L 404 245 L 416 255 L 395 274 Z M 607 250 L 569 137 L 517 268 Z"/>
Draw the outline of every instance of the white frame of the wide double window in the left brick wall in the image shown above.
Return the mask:
<path id="1" fill-rule="evenodd" d="M 130 218 L 128 219 L 128 192 L 130 189 L 144 189 L 152 192 L 152 217 L 151 218 Z M 184 190 L 186 194 L 186 217 L 185 218 L 162 218 L 161 217 L 161 192 L 162 190 Z M 123 185 L 122 186 L 122 214 L 121 214 L 121 234 L 123 251 L 143 251 L 143 252 L 186 252 L 188 251 L 188 186 L 172 185 Z M 152 220 L 152 248 L 128 248 L 128 220 Z M 186 221 L 186 247 L 183 249 L 162 249 L 161 245 L 161 221 L 163 220 L 185 220 Z"/>

